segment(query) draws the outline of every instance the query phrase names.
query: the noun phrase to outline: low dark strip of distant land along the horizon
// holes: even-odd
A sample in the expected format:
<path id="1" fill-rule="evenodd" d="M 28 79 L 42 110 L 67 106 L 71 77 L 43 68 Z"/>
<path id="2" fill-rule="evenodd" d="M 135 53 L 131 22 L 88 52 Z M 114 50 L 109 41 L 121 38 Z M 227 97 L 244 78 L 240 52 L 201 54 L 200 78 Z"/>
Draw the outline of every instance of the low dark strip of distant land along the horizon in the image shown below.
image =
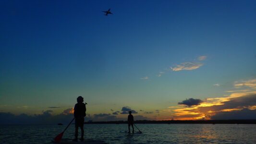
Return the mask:
<path id="1" fill-rule="evenodd" d="M 124 124 L 127 121 L 88 121 L 85 124 Z M 256 124 L 256 120 L 136 120 L 140 124 Z"/>

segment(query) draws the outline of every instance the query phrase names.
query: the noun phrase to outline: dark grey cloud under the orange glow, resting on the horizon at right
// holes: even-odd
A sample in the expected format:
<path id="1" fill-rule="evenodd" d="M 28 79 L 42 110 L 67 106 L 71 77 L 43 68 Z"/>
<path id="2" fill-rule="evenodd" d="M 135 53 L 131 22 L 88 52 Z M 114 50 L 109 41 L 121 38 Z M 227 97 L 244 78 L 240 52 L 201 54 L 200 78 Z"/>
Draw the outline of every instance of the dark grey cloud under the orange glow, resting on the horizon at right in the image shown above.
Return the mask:
<path id="1" fill-rule="evenodd" d="M 218 112 L 211 116 L 212 120 L 256 120 L 256 110 L 244 108 L 236 111 Z"/>

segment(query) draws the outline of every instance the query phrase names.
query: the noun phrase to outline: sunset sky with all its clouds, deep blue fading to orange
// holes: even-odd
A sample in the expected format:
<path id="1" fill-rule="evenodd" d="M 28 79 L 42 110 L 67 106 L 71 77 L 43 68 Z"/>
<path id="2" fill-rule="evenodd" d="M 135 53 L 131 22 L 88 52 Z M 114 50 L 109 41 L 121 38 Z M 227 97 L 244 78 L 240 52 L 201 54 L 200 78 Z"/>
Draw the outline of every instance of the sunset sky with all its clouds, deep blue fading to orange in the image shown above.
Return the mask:
<path id="1" fill-rule="evenodd" d="M 255 5 L 1 0 L 0 123 L 256 119 Z"/>

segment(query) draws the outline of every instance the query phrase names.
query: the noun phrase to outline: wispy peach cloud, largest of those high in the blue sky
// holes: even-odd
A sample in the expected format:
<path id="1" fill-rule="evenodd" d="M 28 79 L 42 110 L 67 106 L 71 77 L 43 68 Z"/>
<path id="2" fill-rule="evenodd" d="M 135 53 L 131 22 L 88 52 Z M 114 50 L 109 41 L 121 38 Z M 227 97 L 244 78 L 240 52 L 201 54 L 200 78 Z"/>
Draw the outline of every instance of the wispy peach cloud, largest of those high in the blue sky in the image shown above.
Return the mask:
<path id="1" fill-rule="evenodd" d="M 195 70 L 201 67 L 203 64 L 198 62 L 183 62 L 174 67 L 170 67 L 172 71 L 182 71 L 182 70 Z"/>

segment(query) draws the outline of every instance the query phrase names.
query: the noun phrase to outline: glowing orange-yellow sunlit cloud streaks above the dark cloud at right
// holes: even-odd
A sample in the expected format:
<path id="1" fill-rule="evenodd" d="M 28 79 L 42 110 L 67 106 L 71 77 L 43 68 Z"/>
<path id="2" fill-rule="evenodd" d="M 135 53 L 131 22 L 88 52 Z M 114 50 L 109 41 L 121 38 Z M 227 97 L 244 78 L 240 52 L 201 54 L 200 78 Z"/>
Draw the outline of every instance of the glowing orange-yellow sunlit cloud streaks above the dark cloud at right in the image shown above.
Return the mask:
<path id="1" fill-rule="evenodd" d="M 190 108 L 183 107 L 172 110 L 171 116 L 176 120 L 210 119 L 219 112 L 240 111 L 243 109 L 256 110 L 256 79 L 235 82 L 234 88 L 246 87 L 246 90 L 235 90 L 229 96 L 207 98 L 206 101 Z M 169 107 L 175 108 L 175 107 Z"/>

